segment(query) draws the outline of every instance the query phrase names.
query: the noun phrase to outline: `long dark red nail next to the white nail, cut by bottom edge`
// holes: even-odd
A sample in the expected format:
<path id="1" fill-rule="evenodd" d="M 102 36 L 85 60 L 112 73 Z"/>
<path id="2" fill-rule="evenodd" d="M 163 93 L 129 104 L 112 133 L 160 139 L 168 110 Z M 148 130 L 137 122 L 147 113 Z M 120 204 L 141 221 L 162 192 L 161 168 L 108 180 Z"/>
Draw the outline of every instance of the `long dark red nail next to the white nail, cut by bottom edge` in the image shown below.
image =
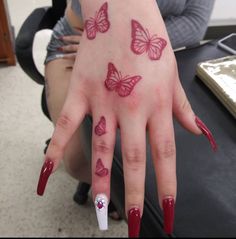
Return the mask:
<path id="1" fill-rule="evenodd" d="M 138 208 L 131 208 L 128 212 L 129 237 L 139 237 L 140 222 L 140 210 Z"/>

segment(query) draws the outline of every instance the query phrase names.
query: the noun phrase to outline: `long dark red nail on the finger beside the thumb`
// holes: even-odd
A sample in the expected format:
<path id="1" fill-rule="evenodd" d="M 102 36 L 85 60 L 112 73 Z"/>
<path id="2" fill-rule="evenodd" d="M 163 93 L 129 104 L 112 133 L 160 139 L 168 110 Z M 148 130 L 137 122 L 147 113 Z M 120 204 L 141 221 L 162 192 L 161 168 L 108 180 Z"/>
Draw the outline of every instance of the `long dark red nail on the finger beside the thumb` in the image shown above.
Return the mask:
<path id="1" fill-rule="evenodd" d="M 163 199 L 164 231 L 170 235 L 173 232 L 175 216 L 175 200 L 172 197 Z"/>

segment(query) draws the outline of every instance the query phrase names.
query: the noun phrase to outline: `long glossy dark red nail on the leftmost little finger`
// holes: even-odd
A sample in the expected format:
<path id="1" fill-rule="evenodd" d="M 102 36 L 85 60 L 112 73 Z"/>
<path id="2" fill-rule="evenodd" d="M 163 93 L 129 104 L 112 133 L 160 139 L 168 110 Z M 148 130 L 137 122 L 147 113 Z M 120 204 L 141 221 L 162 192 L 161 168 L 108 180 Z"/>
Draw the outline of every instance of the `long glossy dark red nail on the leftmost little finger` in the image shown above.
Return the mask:
<path id="1" fill-rule="evenodd" d="M 37 194 L 39 196 L 42 196 L 44 193 L 48 178 L 50 174 L 52 173 L 53 166 L 54 166 L 54 163 L 50 159 L 47 159 L 43 164 L 40 177 L 39 177 L 38 188 L 37 188 Z"/>

